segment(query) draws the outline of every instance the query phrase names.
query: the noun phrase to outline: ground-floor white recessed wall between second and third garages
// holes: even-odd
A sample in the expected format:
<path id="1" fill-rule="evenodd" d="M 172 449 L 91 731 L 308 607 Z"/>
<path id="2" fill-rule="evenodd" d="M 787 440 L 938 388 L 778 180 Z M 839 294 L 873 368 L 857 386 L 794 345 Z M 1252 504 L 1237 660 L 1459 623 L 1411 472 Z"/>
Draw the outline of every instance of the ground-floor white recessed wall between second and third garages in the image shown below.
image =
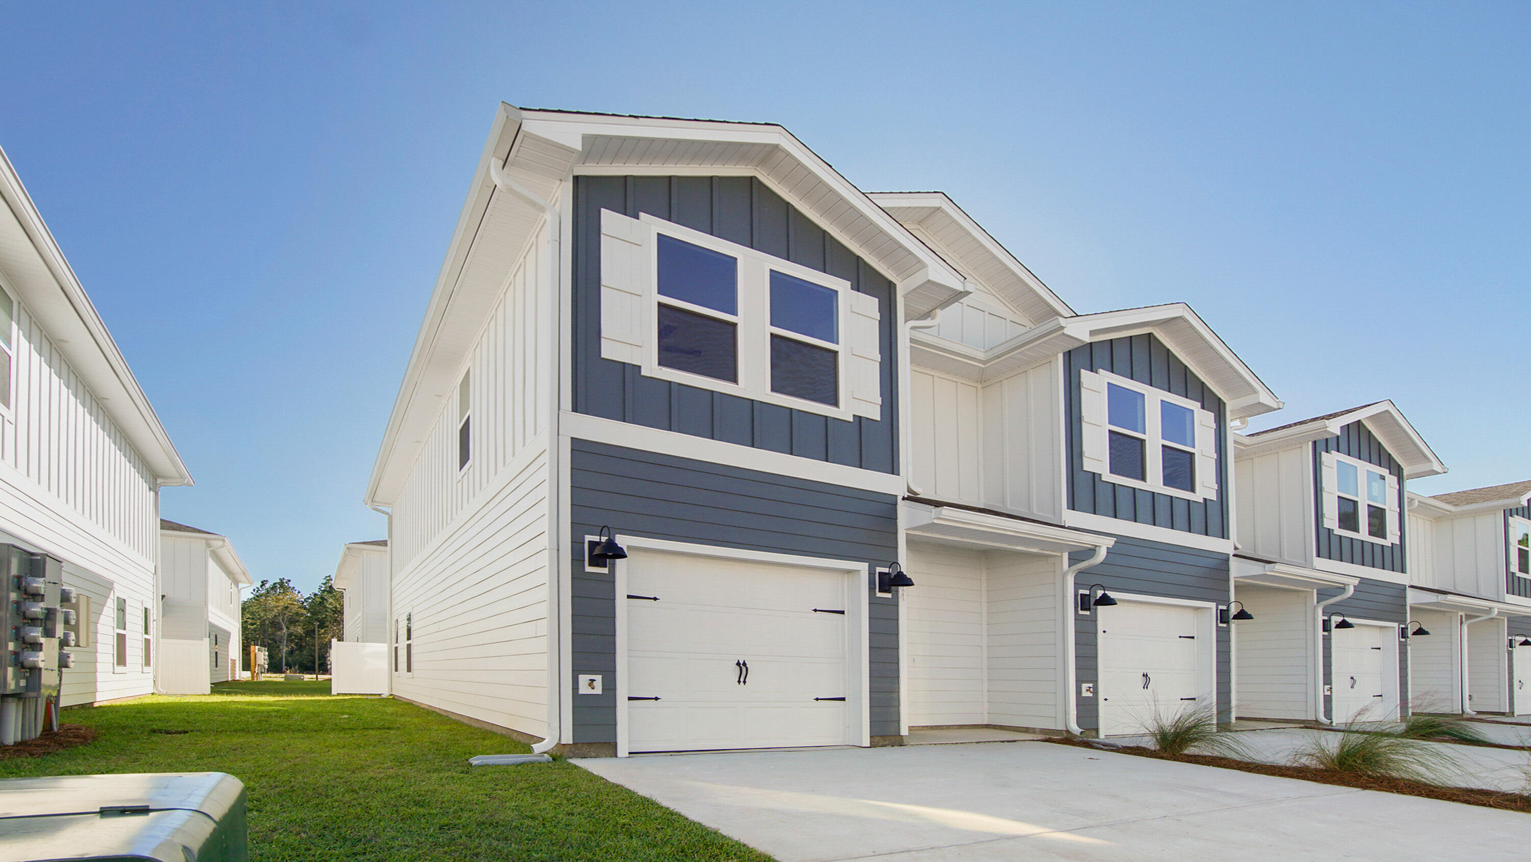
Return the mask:
<path id="1" fill-rule="evenodd" d="M 1312 591 L 1239 586 L 1237 599 L 1254 614 L 1234 628 L 1239 717 L 1312 718 Z"/>

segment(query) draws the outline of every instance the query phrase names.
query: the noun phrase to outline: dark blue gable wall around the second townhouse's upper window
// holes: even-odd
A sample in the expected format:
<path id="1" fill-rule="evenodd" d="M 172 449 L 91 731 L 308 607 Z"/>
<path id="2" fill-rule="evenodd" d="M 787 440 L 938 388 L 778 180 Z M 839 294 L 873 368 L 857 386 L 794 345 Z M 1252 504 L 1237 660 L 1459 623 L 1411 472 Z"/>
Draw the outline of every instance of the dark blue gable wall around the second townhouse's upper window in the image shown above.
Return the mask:
<path id="1" fill-rule="evenodd" d="M 1064 409 L 1069 416 L 1069 508 L 1090 511 L 1138 524 L 1168 527 L 1199 536 L 1228 537 L 1228 495 L 1219 491 L 1216 499 L 1191 502 L 1107 482 L 1096 473 L 1084 470 L 1084 446 L 1079 420 L 1079 372 L 1108 371 L 1138 383 L 1147 383 L 1171 395 L 1197 401 L 1203 410 L 1217 416 L 1222 429 L 1223 400 L 1213 393 L 1164 341 L 1153 335 L 1130 335 L 1095 341 L 1069 351 L 1066 360 Z M 1217 435 L 1217 487 L 1228 487 L 1228 470 L 1223 458 L 1223 436 Z"/>

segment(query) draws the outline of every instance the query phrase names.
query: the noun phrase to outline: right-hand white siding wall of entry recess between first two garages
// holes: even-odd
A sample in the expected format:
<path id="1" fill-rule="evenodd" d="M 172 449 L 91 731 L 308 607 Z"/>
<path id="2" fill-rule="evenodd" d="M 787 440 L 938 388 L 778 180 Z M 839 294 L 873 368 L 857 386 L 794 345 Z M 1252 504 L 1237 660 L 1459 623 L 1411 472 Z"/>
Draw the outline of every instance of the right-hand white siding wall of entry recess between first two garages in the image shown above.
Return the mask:
<path id="1" fill-rule="evenodd" d="M 989 551 L 989 724 L 1063 729 L 1063 557 Z"/>

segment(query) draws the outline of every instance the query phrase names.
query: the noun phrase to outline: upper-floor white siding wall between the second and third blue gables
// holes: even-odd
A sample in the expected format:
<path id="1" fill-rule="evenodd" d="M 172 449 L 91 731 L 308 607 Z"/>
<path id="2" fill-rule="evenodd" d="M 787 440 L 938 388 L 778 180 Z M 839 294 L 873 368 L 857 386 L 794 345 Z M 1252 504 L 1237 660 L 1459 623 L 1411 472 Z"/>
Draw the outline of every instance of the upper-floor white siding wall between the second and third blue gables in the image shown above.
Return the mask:
<path id="1" fill-rule="evenodd" d="M 1258 557 L 1307 565 L 1314 531 L 1307 447 L 1240 458 L 1234 487 L 1239 547 Z"/>

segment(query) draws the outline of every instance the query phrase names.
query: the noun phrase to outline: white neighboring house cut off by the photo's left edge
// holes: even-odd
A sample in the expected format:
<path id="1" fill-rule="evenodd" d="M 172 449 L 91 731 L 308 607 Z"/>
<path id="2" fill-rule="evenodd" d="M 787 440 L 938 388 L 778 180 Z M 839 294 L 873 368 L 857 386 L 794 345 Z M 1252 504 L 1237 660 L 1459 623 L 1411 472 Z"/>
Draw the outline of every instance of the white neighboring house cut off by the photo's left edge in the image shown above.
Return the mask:
<path id="1" fill-rule="evenodd" d="M 80 600 L 61 704 L 155 687 L 159 488 L 191 476 L 0 153 L 0 544 Z"/>

